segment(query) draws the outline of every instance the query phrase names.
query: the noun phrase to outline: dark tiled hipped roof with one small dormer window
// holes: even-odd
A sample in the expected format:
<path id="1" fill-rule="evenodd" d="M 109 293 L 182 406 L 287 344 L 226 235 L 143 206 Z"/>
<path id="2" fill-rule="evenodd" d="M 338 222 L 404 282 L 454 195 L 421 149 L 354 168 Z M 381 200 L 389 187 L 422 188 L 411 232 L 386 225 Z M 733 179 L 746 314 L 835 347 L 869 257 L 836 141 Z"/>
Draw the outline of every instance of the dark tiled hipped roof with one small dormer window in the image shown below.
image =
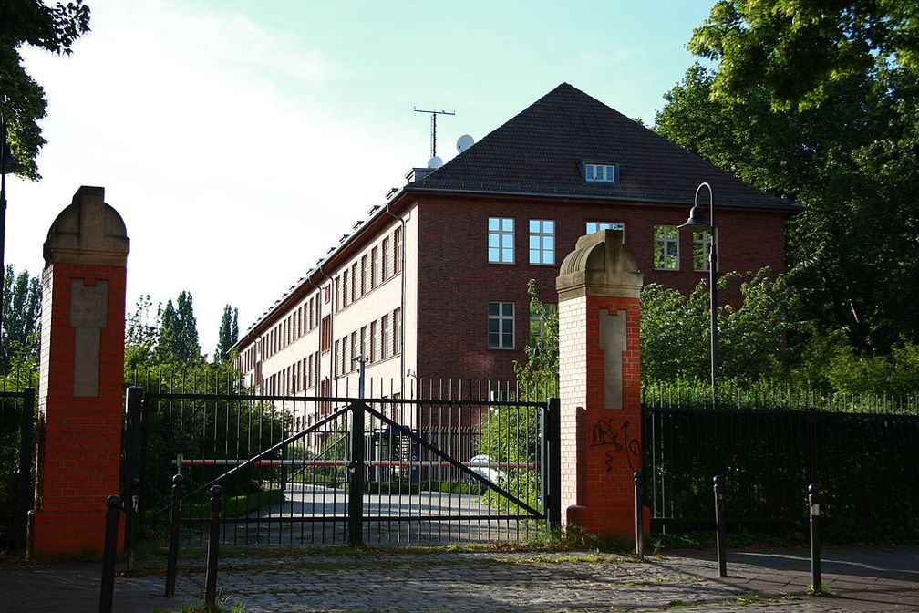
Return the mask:
<path id="1" fill-rule="evenodd" d="M 618 185 L 584 184 L 582 162 L 618 164 Z M 684 204 L 702 181 L 711 185 L 716 206 L 798 208 L 563 83 L 409 189 Z"/>

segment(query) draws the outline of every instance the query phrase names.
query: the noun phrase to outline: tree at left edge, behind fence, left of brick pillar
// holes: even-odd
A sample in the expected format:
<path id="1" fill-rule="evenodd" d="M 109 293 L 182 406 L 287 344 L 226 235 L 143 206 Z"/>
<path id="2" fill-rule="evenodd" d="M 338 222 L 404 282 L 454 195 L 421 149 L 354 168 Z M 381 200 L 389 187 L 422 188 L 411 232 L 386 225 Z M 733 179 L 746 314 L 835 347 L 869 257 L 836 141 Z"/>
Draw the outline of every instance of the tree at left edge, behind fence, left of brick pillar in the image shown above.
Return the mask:
<path id="1" fill-rule="evenodd" d="M 0 373 L 6 374 L 13 362 L 38 360 L 41 340 L 41 279 L 31 277 L 28 270 L 17 275 L 12 265 L 8 265 L 4 276 L 3 299 Z"/>

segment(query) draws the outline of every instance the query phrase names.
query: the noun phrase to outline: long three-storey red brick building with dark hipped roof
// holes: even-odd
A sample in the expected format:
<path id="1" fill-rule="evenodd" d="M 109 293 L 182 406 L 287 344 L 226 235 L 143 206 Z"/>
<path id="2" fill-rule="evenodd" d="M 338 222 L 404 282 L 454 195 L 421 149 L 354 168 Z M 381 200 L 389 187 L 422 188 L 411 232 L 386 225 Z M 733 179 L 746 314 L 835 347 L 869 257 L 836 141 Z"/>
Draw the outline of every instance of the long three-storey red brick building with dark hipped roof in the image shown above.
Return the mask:
<path id="1" fill-rule="evenodd" d="M 512 379 L 531 332 L 528 279 L 555 302 L 582 234 L 622 229 L 645 283 L 687 291 L 708 275 L 708 237 L 676 231 L 702 181 L 720 270 L 783 270 L 794 204 L 559 85 L 446 165 L 413 169 L 244 335 L 238 366 L 262 392 L 307 395 L 357 392 L 357 355 L 386 381 L 378 395 Z"/>

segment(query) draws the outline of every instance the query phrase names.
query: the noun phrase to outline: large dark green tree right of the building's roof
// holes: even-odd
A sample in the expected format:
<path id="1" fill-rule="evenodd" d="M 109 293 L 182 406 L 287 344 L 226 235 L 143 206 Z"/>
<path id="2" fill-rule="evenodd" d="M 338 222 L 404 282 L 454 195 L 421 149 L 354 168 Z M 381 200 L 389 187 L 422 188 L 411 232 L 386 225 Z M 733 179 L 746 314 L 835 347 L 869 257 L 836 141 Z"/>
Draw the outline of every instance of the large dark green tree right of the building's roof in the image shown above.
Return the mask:
<path id="1" fill-rule="evenodd" d="M 823 104 L 797 111 L 772 108 L 766 85 L 720 99 L 717 78 L 691 68 L 655 129 L 804 207 L 789 222 L 796 318 L 868 355 L 919 341 L 919 71 L 837 78 Z"/>

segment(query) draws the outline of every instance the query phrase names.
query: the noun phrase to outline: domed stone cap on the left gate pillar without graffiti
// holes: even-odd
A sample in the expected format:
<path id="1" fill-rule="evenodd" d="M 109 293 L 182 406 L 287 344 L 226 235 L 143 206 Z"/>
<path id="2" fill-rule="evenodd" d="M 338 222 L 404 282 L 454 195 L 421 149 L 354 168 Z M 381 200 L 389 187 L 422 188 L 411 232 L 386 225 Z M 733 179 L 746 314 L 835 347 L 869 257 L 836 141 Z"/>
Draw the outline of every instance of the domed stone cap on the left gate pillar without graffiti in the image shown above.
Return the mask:
<path id="1" fill-rule="evenodd" d="M 51 223 L 44 244 L 45 266 L 96 264 L 125 266 L 130 239 L 119 212 L 105 203 L 105 187 L 83 186 Z"/>

